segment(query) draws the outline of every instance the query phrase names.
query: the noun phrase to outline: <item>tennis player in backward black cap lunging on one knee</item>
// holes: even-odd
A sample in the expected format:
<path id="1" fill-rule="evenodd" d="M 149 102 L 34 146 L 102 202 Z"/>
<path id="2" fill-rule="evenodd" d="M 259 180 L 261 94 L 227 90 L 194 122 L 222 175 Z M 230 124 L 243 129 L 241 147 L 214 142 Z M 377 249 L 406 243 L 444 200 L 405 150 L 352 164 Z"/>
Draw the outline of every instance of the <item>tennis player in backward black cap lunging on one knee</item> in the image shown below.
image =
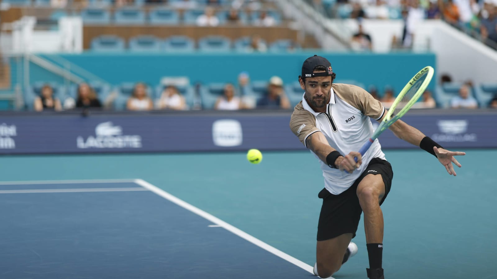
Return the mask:
<path id="1" fill-rule="evenodd" d="M 392 185 L 393 171 L 378 139 L 362 157 L 357 150 L 374 132 L 370 117 L 382 121 L 386 112 L 380 101 L 360 87 L 333 83 L 330 62 L 313 56 L 302 65 L 300 86 L 305 90 L 290 120 L 293 133 L 319 158 L 325 188 L 318 197 L 323 206 L 318 222 L 314 274 L 328 278 L 357 253 L 355 237 L 361 213 L 369 256 L 370 279 L 384 279 L 382 268 L 383 213 Z M 455 155 L 412 126 L 397 120 L 390 130 L 400 139 L 421 147 L 438 158 L 450 175 Z M 354 157 L 358 158 L 355 162 Z"/>

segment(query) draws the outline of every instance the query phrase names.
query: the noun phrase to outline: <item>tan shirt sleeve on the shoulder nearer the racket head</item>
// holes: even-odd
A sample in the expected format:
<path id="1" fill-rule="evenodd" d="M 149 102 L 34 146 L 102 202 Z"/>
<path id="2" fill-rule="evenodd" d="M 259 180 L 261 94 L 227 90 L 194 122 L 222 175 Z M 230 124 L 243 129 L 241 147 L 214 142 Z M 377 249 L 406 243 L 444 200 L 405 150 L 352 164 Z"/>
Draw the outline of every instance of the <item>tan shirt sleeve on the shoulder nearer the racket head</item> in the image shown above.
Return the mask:
<path id="1" fill-rule="evenodd" d="M 359 86 L 337 83 L 333 84 L 333 91 L 340 99 L 375 120 L 381 119 L 385 114 L 383 104 Z"/>

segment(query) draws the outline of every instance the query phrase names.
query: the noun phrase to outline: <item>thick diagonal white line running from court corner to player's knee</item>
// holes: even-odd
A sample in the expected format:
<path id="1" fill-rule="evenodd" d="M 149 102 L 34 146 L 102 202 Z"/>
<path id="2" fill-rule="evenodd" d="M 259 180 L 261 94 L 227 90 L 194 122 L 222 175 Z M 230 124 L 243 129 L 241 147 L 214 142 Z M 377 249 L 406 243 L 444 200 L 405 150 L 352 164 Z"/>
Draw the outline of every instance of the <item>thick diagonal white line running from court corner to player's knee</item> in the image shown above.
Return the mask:
<path id="1" fill-rule="evenodd" d="M 172 203 L 174 203 L 174 204 L 176 204 L 184 209 L 187 209 L 187 210 L 189 210 L 197 215 L 200 215 L 200 216 L 206 218 L 207 220 L 225 228 L 228 231 L 231 231 L 232 233 L 240 236 L 241 238 L 247 240 L 248 242 L 250 242 L 250 243 L 252 243 L 252 244 L 254 244 L 254 245 L 256 245 L 256 246 L 258 246 L 258 247 L 260 247 L 260 248 L 262 248 L 262 249 L 294 264 L 294 265 L 296 265 L 296 266 L 298 266 L 299 268 L 302 268 L 303 270 L 305 270 L 311 274 L 314 274 L 314 272 L 313 272 L 314 267 L 311 267 L 310 265 L 308 265 L 308 264 L 306 264 L 298 259 L 295 259 L 294 257 L 272 247 L 271 245 L 255 238 L 251 235 L 249 235 L 245 231 L 228 224 L 227 222 L 215 217 L 214 215 L 211 215 L 202 209 L 198 209 L 198 208 L 188 204 L 187 202 L 172 196 L 171 194 L 158 188 L 157 186 L 154 186 L 154 185 L 152 185 L 152 184 L 150 184 L 147 181 L 142 180 L 142 179 L 135 179 L 135 183 L 140 185 L 140 186 L 143 186 L 144 188 L 149 189 L 150 191 L 156 193 L 157 195 L 165 198 L 166 200 L 168 200 L 168 201 L 170 201 L 170 202 L 172 202 Z"/>

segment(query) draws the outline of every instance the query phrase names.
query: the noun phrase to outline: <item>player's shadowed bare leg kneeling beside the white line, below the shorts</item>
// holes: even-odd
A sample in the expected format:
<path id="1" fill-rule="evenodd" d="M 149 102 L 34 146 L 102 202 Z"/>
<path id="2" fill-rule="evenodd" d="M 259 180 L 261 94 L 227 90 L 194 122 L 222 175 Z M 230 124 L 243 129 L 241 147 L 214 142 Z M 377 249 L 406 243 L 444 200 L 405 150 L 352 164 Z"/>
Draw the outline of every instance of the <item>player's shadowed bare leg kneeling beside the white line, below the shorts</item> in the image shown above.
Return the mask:
<path id="1" fill-rule="evenodd" d="M 318 241 L 316 262 L 319 277 L 328 278 L 340 269 L 351 239 L 352 233 L 344 233 L 335 238 Z"/>

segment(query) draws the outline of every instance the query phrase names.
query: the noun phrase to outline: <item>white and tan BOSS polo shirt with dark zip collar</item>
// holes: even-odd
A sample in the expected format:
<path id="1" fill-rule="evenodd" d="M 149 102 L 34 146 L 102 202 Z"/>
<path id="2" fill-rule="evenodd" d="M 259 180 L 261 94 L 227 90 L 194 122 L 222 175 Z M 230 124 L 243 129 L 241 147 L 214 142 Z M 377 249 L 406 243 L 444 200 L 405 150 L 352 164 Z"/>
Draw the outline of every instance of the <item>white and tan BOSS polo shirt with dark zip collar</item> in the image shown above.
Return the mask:
<path id="1" fill-rule="evenodd" d="M 304 97 L 295 106 L 290 128 L 304 145 L 307 137 L 321 132 L 331 147 L 346 155 L 351 151 L 358 151 L 373 135 L 374 129 L 369 117 L 379 120 L 384 114 L 385 108 L 381 102 L 364 89 L 351 84 L 333 83 L 326 112 L 314 112 Z M 359 169 L 350 174 L 331 168 L 326 162 L 319 160 L 325 177 L 325 188 L 333 195 L 347 190 L 375 157 L 385 159 L 378 139 L 375 139 L 362 157 Z"/>

